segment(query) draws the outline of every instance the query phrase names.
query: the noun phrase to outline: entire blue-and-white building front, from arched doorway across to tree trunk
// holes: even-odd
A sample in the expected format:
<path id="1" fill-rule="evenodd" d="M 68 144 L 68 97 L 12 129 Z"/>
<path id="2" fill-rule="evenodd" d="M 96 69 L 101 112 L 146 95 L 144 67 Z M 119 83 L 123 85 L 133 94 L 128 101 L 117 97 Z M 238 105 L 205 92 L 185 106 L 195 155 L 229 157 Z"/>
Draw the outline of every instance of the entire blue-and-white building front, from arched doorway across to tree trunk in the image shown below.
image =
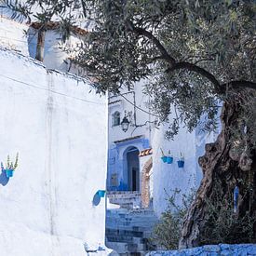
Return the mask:
<path id="1" fill-rule="evenodd" d="M 208 134 L 200 127 L 192 132 L 181 128 L 174 140 L 168 141 L 168 124 L 155 127 L 155 115 L 148 108 L 150 99 L 142 91 L 143 81 L 131 91 L 124 89 L 121 95 L 109 97 L 107 189 L 110 196 L 119 191 L 120 205 L 123 195 L 138 192 L 140 203 L 136 199 L 130 206 L 153 207 L 160 217 L 175 190 L 181 191 L 177 203 L 182 204 L 182 194 L 191 194 L 199 186 L 202 170 L 198 157 L 204 155 L 206 143 L 216 140 L 218 131 Z M 169 120 L 173 117 L 168 116 Z M 124 131 L 126 118 L 129 124 Z M 171 157 L 171 163 L 164 162 L 163 155 Z M 133 195 L 130 198 L 134 200 Z"/>

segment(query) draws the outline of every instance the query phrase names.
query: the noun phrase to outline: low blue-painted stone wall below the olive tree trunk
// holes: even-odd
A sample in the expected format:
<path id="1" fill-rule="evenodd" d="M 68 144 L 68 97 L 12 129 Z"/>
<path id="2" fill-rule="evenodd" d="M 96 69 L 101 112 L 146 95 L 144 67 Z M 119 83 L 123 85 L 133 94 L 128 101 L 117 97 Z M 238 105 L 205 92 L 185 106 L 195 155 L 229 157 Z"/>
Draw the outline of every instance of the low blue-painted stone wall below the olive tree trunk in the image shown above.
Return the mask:
<path id="1" fill-rule="evenodd" d="M 208 245 L 203 247 L 196 247 L 193 249 L 177 249 L 166 251 L 152 251 L 147 256 L 217 256 L 217 255 L 232 255 L 232 256 L 244 256 L 244 255 L 256 255 L 256 244 L 239 244 L 239 245 Z"/>

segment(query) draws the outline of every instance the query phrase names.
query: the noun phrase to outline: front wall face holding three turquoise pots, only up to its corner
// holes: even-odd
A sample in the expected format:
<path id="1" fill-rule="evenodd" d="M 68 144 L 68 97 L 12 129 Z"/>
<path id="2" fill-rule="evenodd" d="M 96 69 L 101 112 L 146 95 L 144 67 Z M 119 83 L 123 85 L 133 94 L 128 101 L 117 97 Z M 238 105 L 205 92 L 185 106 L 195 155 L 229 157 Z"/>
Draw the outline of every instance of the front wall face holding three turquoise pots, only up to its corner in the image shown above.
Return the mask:
<path id="1" fill-rule="evenodd" d="M 174 141 L 165 139 L 167 127 L 162 126 L 155 130 L 153 142 L 154 160 L 154 209 L 158 216 L 161 215 L 168 206 L 168 195 L 175 189 L 180 189 L 181 194 L 188 194 L 196 186 L 196 159 L 195 159 L 195 132 L 188 133 L 185 128 L 181 128 Z M 173 156 L 173 163 L 163 163 L 161 150 L 168 155 L 170 150 Z M 184 168 L 178 168 L 177 161 L 180 153 L 184 155 Z M 181 204 L 181 196 L 177 196 L 177 203 Z"/>

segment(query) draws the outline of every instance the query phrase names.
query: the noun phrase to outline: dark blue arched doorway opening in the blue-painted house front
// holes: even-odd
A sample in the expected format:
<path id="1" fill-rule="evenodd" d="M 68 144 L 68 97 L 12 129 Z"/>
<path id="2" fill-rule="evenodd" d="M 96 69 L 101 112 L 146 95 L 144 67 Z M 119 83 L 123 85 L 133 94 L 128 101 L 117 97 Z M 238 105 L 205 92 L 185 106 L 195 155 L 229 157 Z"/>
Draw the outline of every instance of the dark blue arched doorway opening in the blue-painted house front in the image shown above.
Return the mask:
<path id="1" fill-rule="evenodd" d="M 125 176 L 128 181 L 129 191 L 140 191 L 140 151 L 136 147 L 129 147 L 125 152 Z"/>

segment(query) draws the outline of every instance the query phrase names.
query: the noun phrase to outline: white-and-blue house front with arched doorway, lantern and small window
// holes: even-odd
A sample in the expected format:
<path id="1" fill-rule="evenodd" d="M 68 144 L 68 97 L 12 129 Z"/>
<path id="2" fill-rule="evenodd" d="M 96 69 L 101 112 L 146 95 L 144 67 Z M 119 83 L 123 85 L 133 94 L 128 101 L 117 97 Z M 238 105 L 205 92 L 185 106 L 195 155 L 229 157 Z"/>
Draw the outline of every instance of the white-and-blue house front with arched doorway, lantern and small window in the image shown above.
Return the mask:
<path id="1" fill-rule="evenodd" d="M 109 191 L 141 191 L 140 153 L 151 149 L 154 132 L 142 86 L 141 82 L 109 97 Z"/>

